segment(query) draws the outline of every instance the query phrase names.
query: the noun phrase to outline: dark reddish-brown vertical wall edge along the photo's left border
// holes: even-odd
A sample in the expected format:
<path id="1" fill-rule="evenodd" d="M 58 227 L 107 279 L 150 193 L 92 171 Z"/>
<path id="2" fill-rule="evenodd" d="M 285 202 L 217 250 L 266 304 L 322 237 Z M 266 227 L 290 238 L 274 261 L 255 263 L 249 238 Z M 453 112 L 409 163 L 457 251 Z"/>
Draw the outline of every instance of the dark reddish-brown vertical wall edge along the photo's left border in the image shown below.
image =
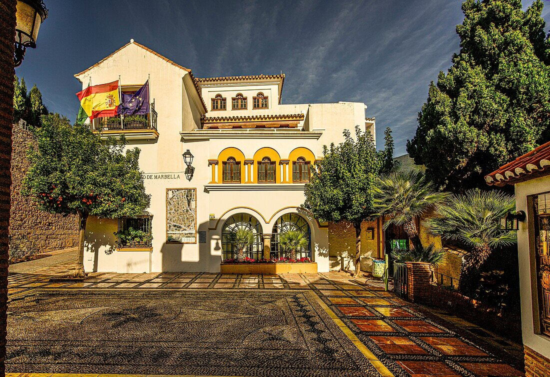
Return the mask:
<path id="1" fill-rule="evenodd" d="M 14 0 L 0 1 L 0 375 L 4 375 L 5 335 L 8 302 L 8 258 L 9 258 L 9 208 L 10 171 L 12 161 L 13 123 L 13 38 L 15 35 Z M 19 167 L 17 167 L 19 168 Z"/>

